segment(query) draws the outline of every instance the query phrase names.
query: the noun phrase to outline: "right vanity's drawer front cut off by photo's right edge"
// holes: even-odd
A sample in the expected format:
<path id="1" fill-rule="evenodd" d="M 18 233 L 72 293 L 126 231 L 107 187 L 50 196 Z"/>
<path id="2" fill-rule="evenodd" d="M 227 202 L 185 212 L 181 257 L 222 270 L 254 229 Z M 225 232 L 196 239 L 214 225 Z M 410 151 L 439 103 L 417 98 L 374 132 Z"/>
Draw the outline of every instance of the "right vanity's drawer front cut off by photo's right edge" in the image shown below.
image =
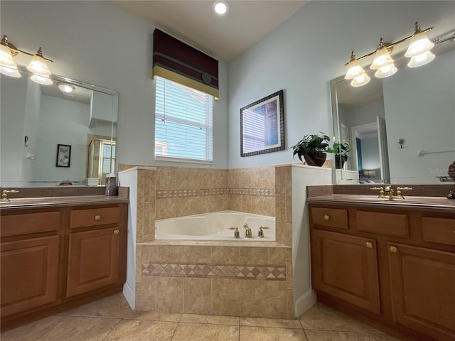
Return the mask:
<path id="1" fill-rule="evenodd" d="M 422 217 L 425 242 L 455 245 L 455 219 Z"/>

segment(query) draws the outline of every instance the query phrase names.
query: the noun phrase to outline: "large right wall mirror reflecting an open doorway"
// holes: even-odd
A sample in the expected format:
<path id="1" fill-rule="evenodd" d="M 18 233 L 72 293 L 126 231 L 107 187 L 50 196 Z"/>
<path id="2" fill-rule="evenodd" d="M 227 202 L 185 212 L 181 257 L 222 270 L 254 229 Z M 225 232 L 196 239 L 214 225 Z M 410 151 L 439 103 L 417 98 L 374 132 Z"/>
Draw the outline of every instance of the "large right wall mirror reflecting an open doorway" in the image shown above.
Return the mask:
<path id="1" fill-rule="evenodd" d="M 363 87 L 344 77 L 331 81 L 335 141 L 352 148 L 336 169 L 337 184 L 454 185 L 447 174 L 455 161 L 454 39 L 432 52 L 436 58 L 422 67 L 397 60 L 391 77 L 368 72 Z"/>

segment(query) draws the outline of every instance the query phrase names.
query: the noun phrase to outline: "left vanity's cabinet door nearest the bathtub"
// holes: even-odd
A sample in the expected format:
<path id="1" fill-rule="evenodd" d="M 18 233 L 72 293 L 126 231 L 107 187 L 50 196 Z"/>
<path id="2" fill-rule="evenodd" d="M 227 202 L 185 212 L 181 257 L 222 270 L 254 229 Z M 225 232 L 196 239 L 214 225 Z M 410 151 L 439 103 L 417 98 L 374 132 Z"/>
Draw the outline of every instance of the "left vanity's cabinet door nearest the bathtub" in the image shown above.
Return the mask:
<path id="1" fill-rule="evenodd" d="M 71 297 L 119 281 L 119 229 L 70 234 L 66 296 Z"/>

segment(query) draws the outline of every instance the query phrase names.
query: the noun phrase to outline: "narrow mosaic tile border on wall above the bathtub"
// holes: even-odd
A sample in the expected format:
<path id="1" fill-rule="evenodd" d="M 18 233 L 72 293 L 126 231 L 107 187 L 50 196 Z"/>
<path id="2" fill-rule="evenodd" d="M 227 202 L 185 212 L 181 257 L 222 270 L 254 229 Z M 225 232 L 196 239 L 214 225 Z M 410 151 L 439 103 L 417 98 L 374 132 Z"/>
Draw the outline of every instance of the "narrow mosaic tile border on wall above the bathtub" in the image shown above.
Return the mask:
<path id="1" fill-rule="evenodd" d="M 203 195 L 257 195 L 262 197 L 274 197 L 274 189 L 257 188 L 205 188 L 202 190 L 157 190 L 156 198 L 168 197 L 198 197 Z"/>

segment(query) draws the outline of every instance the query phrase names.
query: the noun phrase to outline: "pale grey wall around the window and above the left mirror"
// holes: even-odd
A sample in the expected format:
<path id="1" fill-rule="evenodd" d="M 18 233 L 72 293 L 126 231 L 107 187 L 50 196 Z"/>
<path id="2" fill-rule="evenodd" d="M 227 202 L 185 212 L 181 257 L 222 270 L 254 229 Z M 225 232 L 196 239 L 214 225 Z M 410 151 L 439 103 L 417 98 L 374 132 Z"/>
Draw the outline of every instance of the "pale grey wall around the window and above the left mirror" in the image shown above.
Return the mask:
<path id="1" fill-rule="evenodd" d="M 23 50 L 42 46 L 45 57 L 55 62 L 48 65 L 53 73 L 119 92 L 119 163 L 178 166 L 154 161 L 155 26 L 109 1 L 1 1 L 0 9 L 1 34 Z M 15 60 L 27 65 L 30 59 L 18 55 Z M 213 167 L 227 168 L 228 68 L 223 62 L 219 73 Z"/>

